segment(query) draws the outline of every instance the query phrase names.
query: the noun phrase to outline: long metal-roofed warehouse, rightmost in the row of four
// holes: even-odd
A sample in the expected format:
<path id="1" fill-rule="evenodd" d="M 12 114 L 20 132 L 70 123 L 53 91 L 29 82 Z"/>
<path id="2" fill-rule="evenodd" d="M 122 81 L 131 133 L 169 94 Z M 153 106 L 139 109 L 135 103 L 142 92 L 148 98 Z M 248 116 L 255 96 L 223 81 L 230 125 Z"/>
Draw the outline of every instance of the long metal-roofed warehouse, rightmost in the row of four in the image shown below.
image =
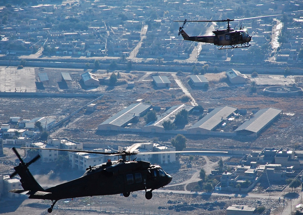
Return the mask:
<path id="1" fill-rule="evenodd" d="M 237 135 L 247 135 L 257 137 L 258 134 L 266 128 L 274 119 L 280 116 L 283 110 L 278 108 L 263 108 L 255 114 L 251 115 L 242 125 L 240 125 L 235 133 Z"/>

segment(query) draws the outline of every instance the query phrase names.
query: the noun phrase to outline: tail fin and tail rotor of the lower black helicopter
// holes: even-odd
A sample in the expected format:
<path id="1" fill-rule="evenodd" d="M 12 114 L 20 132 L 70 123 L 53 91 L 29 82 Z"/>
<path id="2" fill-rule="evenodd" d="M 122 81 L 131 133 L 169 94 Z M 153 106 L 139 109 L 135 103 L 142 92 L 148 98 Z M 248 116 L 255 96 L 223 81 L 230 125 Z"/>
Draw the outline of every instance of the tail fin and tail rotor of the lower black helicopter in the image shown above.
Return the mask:
<path id="1" fill-rule="evenodd" d="M 20 182 L 21 182 L 21 186 L 23 187 L 23 189 L 25 191 L 32 191 L 32 192 L 36 192 L 36 191 L 44 191 L 44 189 L 40 186 L 40 184 L 38 184 L 38 182 L 35 180 L 35 178 L 33 177 L 32 173 L 29 171 L 28 166 L 31 165 L 33 162 L 35 162 L 36 160 L 38 160 L 40 158 L 40 155 L 37 155 L 35 158 L 33 158 L 31 161 L 29 161 L 28 163 L 24 162 L 21 158 L 21 156 L 19 155 L 19 153 L 17 152 L 17 150 L 14 148 L 12 148 L 12 150 L 15 152 L 15 154 L 17 155 L 17 157 L 20 160 L 20 163 L 18 166 L 15 166 L 15 172 L 13 174 L 10 175 L 10 178 L 14 177 L 16 174 L 18 174 L 20 176 Z M 12 190 L 10 192 L 14 192 L 15 190 Z M 31 193 L 32 193 L 31 192 Z"/>

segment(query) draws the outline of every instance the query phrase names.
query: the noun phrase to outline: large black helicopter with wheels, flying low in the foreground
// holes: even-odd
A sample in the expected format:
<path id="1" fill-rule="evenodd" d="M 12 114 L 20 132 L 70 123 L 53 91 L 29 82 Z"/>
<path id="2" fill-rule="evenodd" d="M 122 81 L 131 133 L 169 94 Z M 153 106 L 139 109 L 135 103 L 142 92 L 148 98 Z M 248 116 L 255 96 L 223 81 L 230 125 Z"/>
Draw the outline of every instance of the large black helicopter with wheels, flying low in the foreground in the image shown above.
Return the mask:
<path id="1" fill-rule="evenodd" d="M 128 147 L 125 151 L 114 152 L 96 152 L 83 150 L 68 150 L 54 148 L 27 148 L 26 149 L 45 149 L 71 152 L 85 152 L 94 154 L 103 154 L 107 156 L 121 156 L 122 159 L 89 166 L 83 176 L 72 181 L 58 184 L 54 187 L 42 188 L 35 180 L 28 169 L 28 166 L 40 158 L 37 155 L 29 162 L 24 162 L 15 148 L 15 152 L 20 160 L 18 166 L 15 166 L 15 172 L 10 175 L 10 178 L 16 174 L 20 176 L 21 186 L 23 190 L 14 189 L 10 192 L 18 194 L 27 194 L 30 199 L 47 199 L 52 201 L 52 205 L 48 208 L 48 213 L 52 213 L 53 207 L 60 199 L 85 197 L 85 196 L 100 196 L 123 194 L 128 197 L 131 192 L 145 190 L 146 199 L 152 198 L 152 191 L 164 187 L 171 182 L 172 177 L 167 174 L 159 165 L 152 165 L 147 161 L 129 160 L 131 155 L 146 155 L 146 154 L 168 154 L 168 153 L 227 153 L 226 151 L 160 151 L 160 152 L 136 152 L 135 150 L 142 145 L 135 143 Z M 128 156 L 128 160 L 126 159 Z M 149 190 L 150 189 L 150 190 Z M 149 191 L 147 191 L 149 190 Z"/>

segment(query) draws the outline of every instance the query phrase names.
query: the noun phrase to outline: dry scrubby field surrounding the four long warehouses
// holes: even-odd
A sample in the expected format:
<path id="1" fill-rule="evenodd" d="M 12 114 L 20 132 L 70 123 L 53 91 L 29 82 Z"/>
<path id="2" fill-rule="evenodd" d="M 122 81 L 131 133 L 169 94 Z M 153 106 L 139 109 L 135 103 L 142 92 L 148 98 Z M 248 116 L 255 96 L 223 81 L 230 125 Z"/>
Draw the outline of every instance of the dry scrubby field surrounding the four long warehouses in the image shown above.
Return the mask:
<path id="1" fill-rule="evenodd" d="M 132 71 L 131 74 L 121 72 L 123 80 L 135 81 L 135 87 L 128 89 L 126 84 L 115 87 L 100 85 L 98 88 L 87 89 L 81 85 L 80 74 L 84 70 L 67 69 L 35 69 L 36 79 L 38 73 L 45 72 L 50 79 L 45 86 L 45 90 L 40 92 L 68 92 L 68 93 L 104 93 L 104 97 L 97 101 L 97 110 L 93 113 L 85 113 L 85 110 L 71 119 L 69 124 L 62 126 L 60 130 L 53 130 L 53 138 L 70 138 L 81 142 L 100 143 L 107 145 L 121 145 L 125 142 L 159 140 L 170 142 L 174 135 L 158 134 L 118 134 L 115 132 L 96 132 L 98 124 L 108 119 L 113 114 L 120 111 L 123 107 L 137 99 L 145 99 L 155 106 L 161 106 L 164 112 L 166 106 L 182 103 L 179 97 L 183 95 L 181 89 L 173 80 L 169 73 L 163 73 L 171 80 L 172 86 L 168 89 L 156 89 L 152 84 L 152 76 L 156 73 L 145 73 Z M 60 89 L 61 72 L 69 72 L 73 81 L 67 83 L 68 89 Z M 100 77 L 109 76 L 105 71 L 93 71 Z M 157 74 L 159 75 L 159 73 Z M 192 89 L 188 85 L 188 73 L 178 73 L 177 78 L 189 90 L 193 98 L 205 110 L 221 105 L 231 105 L 240 109 L 247 109 L 248 113 L 253 109 L 275 107 L 283 109 L 284 115 L 270 125 L 258 138 L 234 137 L 218 138 L 208 136 L 188 135 L 187 145 L 198 148 L 241 148 L 241 149 L 260 149 L 264 147 L 294 147 L 302 142 L 302 97 L 270 97 L 263 94 L 264 86 L 256 86 L 256 93 L 251 93 L 250 85 L 236 86 L 227 83 L 224 74 L 206 74 L 210 80 L 207 89 Z M 123 83 L 123 82 L 122 82 Z M 55 116 L 56 119 L 67 116 L 68 113 L 75 111 L 78 107 L 92 101 L 93 98 L 0 98 L 2 108 L 0 109 L 0 122 L 7 122 L 10 116 L 20 116 L 22 119 L 32 119 L 37 116 Z M 160 113 L 161 113 L 160 112 Z M 291 114 L 285 114 L 291 113 Z M 190 126 L 198 121 L 200 113 L 189 117 Z M 243 116 L 245 117 L 245 116 Z M 144 125 L 141 118 L 137 125 Z"/>

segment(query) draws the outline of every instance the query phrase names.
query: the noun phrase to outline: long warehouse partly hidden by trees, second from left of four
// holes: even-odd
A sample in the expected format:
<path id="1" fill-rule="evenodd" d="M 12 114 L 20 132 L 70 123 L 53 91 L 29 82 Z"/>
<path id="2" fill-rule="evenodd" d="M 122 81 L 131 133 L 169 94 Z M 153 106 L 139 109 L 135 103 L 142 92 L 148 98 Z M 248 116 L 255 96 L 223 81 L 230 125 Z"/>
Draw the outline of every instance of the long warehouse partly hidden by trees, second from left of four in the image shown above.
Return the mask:
<path id="1" fill-rule="evenodd" d="M 153 132 L 153 133 L 164 133 L 165 129 L 163 128 L 163 122 L 170 120 L 174 121 L 175 116 L 178 112 L 185 109 L 188 112 L 191 111 L 194 108 L 192 105 L 188 104 L 180 104 L 180 105 L 174 105 L 171 108 L 169 108 L 167 111 L 161 114 L 160 117 L 154 122 L 150 122 L 149 124 L 142 127 L 142 132 Z"/>

